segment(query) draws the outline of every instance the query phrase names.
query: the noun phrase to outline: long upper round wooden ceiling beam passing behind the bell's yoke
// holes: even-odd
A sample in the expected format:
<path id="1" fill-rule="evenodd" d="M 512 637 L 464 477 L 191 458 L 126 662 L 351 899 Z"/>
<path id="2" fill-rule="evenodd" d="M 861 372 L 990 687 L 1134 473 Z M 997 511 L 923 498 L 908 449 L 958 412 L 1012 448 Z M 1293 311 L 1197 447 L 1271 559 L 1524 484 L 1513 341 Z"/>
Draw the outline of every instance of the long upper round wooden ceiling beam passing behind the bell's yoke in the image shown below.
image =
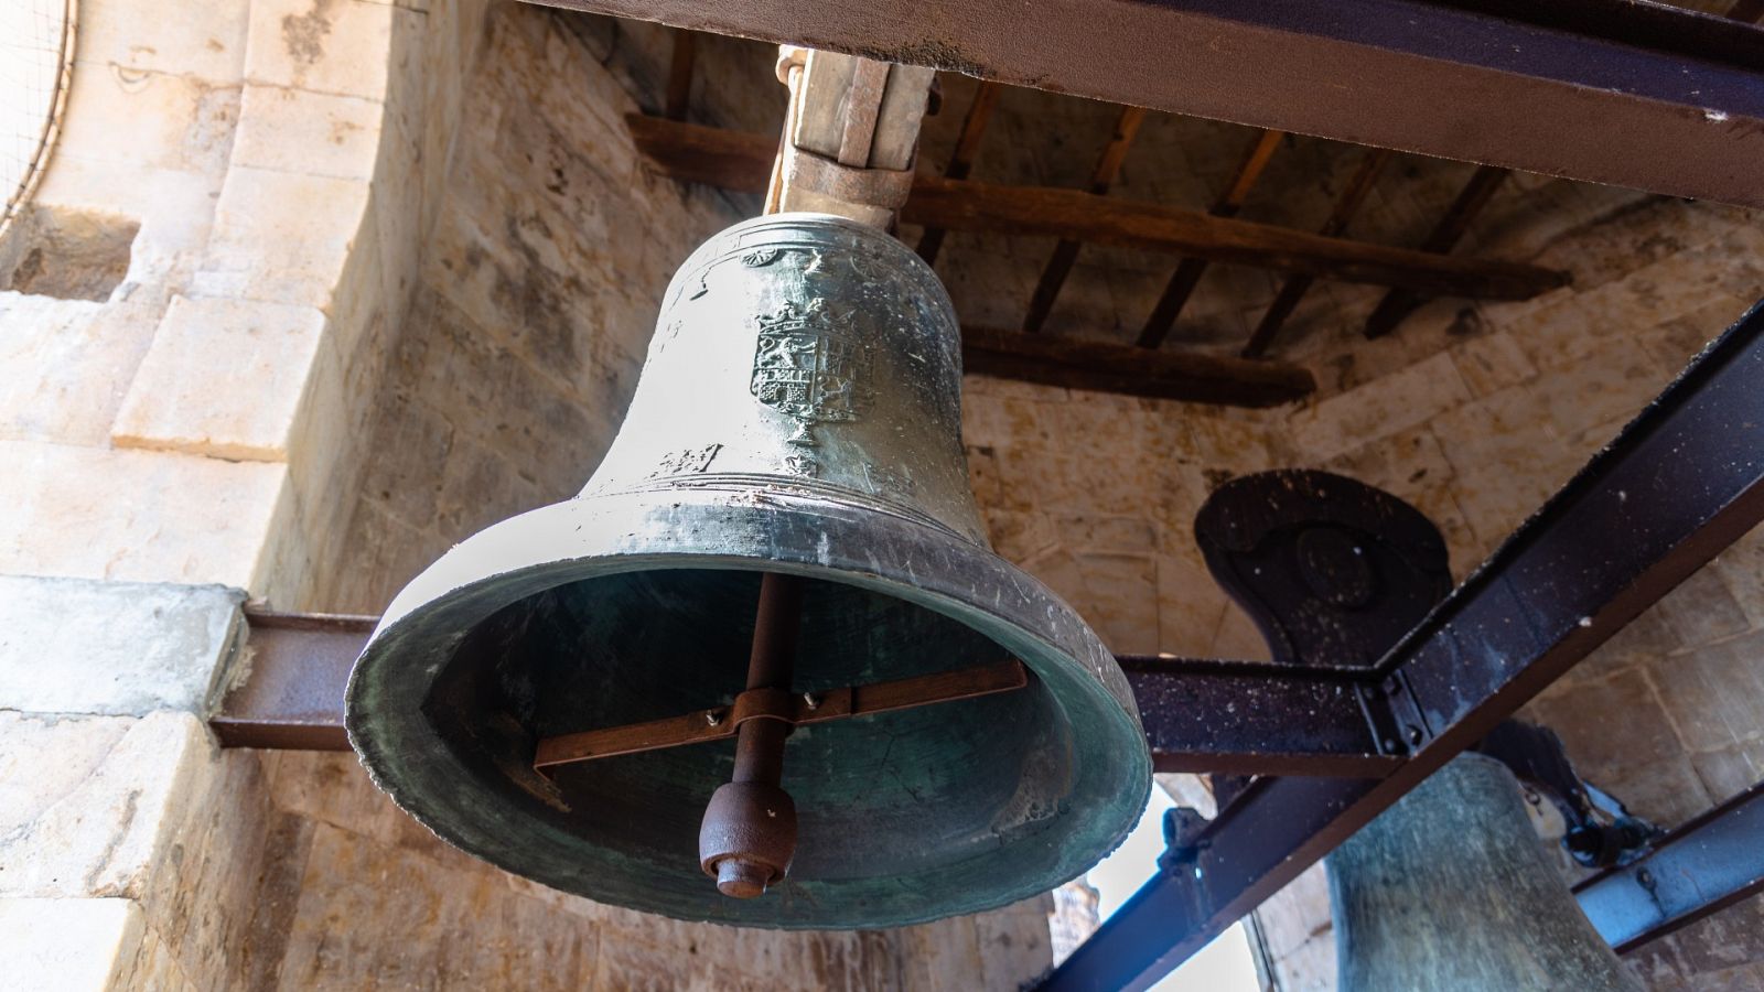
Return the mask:
<path id="1" fill-rule="evenodd" d="M 626 120 L 637 148 L 662 175 L 723 189 L 766 189 L 774 145 L 764 136 L 642 115 Z M 1563 272 L 1535 265 L 1327 238 L 1076 189 L 928 175 L 914 180 L 901 221 L 951 231 L 1071 238 L 1441 297 L 1524 300 L 1568 281 Z"/>

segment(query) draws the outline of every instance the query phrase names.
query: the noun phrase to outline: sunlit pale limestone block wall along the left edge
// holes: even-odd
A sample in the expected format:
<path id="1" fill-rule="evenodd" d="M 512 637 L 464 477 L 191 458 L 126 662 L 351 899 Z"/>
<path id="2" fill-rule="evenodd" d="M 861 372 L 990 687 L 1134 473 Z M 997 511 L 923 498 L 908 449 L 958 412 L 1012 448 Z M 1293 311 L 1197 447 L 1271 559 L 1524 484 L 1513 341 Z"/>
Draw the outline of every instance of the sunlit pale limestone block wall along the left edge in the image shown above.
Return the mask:
<path id="1" fill-rule="evenodd" d="M 7 985 L 266 987 L 273 807 L 203 715 L 245 590 L 339 554 L 483 5 L 79 12 L 0 245 Z"/>

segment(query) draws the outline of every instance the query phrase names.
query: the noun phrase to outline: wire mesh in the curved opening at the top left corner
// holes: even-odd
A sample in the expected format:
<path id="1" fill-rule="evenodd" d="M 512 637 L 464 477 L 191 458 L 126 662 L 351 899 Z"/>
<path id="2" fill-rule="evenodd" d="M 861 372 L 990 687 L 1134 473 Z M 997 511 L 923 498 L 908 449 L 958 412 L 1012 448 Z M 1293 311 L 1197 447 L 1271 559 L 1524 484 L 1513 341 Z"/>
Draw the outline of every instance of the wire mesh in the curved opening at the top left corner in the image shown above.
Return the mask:
<path id="1" fill-rule="evenodd" d="M 0 0 L 0 237 L 30 199 L 60 131 L 76 0 Z"/>

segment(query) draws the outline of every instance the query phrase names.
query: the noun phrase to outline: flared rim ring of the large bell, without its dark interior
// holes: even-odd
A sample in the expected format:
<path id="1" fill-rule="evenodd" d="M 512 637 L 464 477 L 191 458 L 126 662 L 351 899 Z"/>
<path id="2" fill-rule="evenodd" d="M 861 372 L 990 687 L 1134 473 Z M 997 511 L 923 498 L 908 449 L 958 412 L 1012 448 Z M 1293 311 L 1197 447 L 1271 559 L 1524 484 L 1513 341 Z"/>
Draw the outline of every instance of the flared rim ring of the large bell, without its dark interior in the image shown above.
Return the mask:
<path id="1" fill-rule="evenodd" d="M 688 508 L 716 508 L 730 515 L 732 530 L 744 533 L 750 554 L 732 554 L 727 535 L 721 554 L 695 552 L 684 545 L 677 535 L 669 533 L 670 551 L 662 552 L 644 549 L 642 530 L 594 528 L 593 522 L 642 521 L 665 528 L 665 517 Z M 656 521 L 660 514 L 662 521 Z M 1087 872 L 1095 861 L 1115 851 L 1127 833 L 1138 824 L 1152 787 L 1152 759 L 1145 745 L 1145 733 L 1140 724 L 1138 706 L 1127 685 L 1125 674 L 1115 664 L 1113 655 L 1102 646 L 1095 632 L 1051 590 L 1035 577 L 998 558 L 990 547 L 956 538 L 944 528 L 926 526 L 903 517 L 891 517 L 889 526 L 894 537 L 905 537 L 916 551 L 944 551 L 968 563 L 984 563 L 988 568 L 1009 575 L 1011 590 L 1020 595 L 1020 604 L 1039 611 L 1048 628 L 1058 627 L 1064 632 L 1060 641 L 1037 634 L 1027 623 L 1028 616 L 1018 621 L 1002 616 L 1004 604 L 991 597 L 963 598 L 958 591 L 940 588 L 938 574 L 914 575 L 910 584 L 887 582 L 877 570 L 841 567 L 833 561 L 826 545 L 817 549 L 817 556 L 789 556 L 789 549 L 769 544 L 767 535 L 787 522 L 818 526 L 850 524 L 863 514 L 863 508 L 848 508 L 824 500 L 810 500 L 794 494 L 751 492 L 744 500 L 730 500 L 727 492 L 619 492 L 603 496 L 577 496 L 561 503 L 552 503 L 529 510 L 517 517 L 492 524 L 471 538 L 455 545 L 436 560 L 434 565 L 418 574 L 393 598 L 381 616 L 367 648 L 349 671 L 349 685 L 344 699 L 344 725 L 349 745 L 355 748 L 369 778 L 386 793 L 404 812 L 429 828 L 446 844 L 459 847 L 497 868 L 533 879 L 540 884 L 557 888 L 584 898 L 619 906 L 639 913 L 654 913 L 677 920 L 709 921 L 734 927 L 778 928 L 778 930 L 831 930 L 831 928 L 887 928 L 928 923 L 949 916 L 983 913 L 1020 902 L 1023 898 L 1050 891 Z M 739 526 L 741 522 L 748 526 Z M 649 540 L 662 540 L 662 530 L 651 530 Z M 917 540 L 912 540 L 917 538 Z M 912 551 L 908 551 L 910 558 Z M 781 556 L 781 558 L 780 558 Z M 769 916 L 767 911 L 776 902 L 760 900 L 707 900 L 707 906 L 720 913 L 676 911 L 639 898 L 623 898 L 619 893 L 591 891 L 559 884 L 547 879 L 538 861 L 527 865 L 520 858 L 505 858 L 508 847 L 485 844 L 489 835 L 471 837 L 459 830 L 446 815 L 448 807 L 437 803 L 434 793 L 422 787 L 409 787 L 427 780 L 430 785 L 455 785 L 459 766 L 445 747 L 416 747 L 418 741 L 439 745 L 429 722 L 413 706 L 386 706 L 379 722 L 370 722 L 376 711 L 374 695 L 386 699 L 422 699 L 427 695 L 429 680 L 418 674 L 413 664 L 402 671 L 390 669 L 386 660 L 388 644 L 418 637 L 416 644 L 402 650 L 422 650 L 427 643 L 439 648 L 437 641 L 446 637 L 437 632 L 418 630 L 425 618 L 437 612 L 462 614 L 462 620 L 475 621 L 490 612 L 538 591 L 561 584 L 614 575 L 639 570 L 667 568 L 730 568 L 748 572 L 790 572 L 824 581 L 838 581 L 859 588 L 870 588 L 914 602 L 944 616 L 963 621 L 995 616 L 997 627 L 975 627 L 1000 646 L 1011 650 L 1025 665 L 1043 680 L 1055 680 L 1065 688 L 1078 692 L 1078 699 L 1087 703 L 1080 713 L 1088 717 L 1088 731 L 1078 727 L 1071 699 L 1065 706 L 1067 718 L 1074 720 L 1078 733 L 1099 733 L 1110 743 L 1108 763 L 1097 761 L 1080 770 L 1074 780 L 1071 803 L 1062 808 L 1102 808 L 1108 814 L 1097 815 L 1080 831 L 1067 830 L 1048 837 L 1044 828 L 1014 838 L 1013 844 L 975 854 L 970 860 L 947 865 L 942 872 L 954 870 L 970 861 L 1000 861 L 1000 851 L 1013 851 L 1027 844 L 1048 847 L 1057 844 L 1057 868 L 1025 876 L 1018 884 L 995 888 L 983 897 L 970 900 L 944 900 L 928 909 L 919 909 L 912 900 L 901 898 L 889 907 L 866 906 L 863 914 L 841 916 L 838 913 L 811 913 L 796 916 Z M 988 588 L 988 593 L 998 590 Z M 1073 664 L 1081 660 L 1081 664 Z M 432 673 L 429 673 L 432 674 Z M 1113 724 L 1113 725 L 1110 725 Z M 1132 741 L 1120 747 L 1124 741 Z M 1080 741 L 1083 743 L 1083 741 Z M 1131 801 L 1124 801 L 1131 800 Z M 1074 814 L 1062 812 L 1057 821 L 1067 821 Z M 1087 821 L 1078 821 L 1087 823 Z M 573 840 L 573 835 L 557 831 L 536 817 L 526 817 L 531 830 L 556 833 L 561 844 Z M 1095 838 L 1095 840 L 1092 840 Z M 1073 844 L 1081 844 L 1074 853 Z M 942 874 L 940 872 L 940 874 Z M 790 884 L 787 879 L 783 884 Z M 813 900 L 806 900 L 813 902 Z"/>

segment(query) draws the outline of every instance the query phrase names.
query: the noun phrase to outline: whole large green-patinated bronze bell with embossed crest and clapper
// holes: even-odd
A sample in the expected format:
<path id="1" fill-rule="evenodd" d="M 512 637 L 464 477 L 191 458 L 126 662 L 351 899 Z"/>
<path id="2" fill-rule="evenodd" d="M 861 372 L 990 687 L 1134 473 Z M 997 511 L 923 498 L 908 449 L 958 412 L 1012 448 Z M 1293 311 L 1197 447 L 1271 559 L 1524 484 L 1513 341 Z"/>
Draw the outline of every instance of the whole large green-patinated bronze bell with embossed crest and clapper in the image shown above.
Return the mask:
<path id="1" fill-rule="evenodd" d="M 348 694 L 374 780 L 510 872 L 748 927 L 974 913 L 1115 847 L 1150 784 L 1132 695 L 986 544 L 930 267 L 762 217 L 656 327 L 582 494 L 392 602 Z"/>

